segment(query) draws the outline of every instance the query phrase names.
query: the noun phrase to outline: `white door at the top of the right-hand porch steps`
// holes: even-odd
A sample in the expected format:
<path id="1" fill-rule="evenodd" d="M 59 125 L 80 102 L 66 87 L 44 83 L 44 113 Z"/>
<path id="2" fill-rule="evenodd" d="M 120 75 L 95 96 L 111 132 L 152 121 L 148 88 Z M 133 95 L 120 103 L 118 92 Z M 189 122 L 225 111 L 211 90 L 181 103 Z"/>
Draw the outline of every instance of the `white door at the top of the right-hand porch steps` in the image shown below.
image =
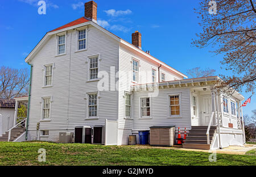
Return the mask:
<path id="1" fill-rule="evenodd" d="M 212 113 L 212 96 L 202 95 L 202 122 L 203 126 L 208 126 Z"/>

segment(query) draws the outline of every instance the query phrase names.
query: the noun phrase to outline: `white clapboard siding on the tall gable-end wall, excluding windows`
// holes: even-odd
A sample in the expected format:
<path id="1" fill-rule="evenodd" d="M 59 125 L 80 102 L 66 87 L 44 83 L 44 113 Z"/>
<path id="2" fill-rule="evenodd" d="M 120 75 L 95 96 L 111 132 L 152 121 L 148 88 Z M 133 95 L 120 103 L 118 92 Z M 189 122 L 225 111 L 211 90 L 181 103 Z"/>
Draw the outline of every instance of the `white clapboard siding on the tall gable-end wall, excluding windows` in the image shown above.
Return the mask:
<path id="1" fill-rule="evenodd" d="M 100 71 L 110 66 L 118 71 L 118 41 L 90 26 L 87 35 L 87 50 L 76 51 L 75 30 L 67 32 L 66 54 L 56 56 L 56 36 L 53 35 L 32 59 L 32 86 L 28 130 L 73 129 L 79 125 L 104 125 L 105 119 L 118 119 L 118 91 L 100 91 L 98 119 L 86 120 L 86 92 L 96 92 L 96 82 L 86 82 L 88 66 L 86 57 L 100 54 Z M 53 86 L 43 88 L 43 65 L 54 64 Z M 118 78 L 115 78 L 117 82 Z M 52 96 L 51 121 L 40 121 L 41 98 Z"/>

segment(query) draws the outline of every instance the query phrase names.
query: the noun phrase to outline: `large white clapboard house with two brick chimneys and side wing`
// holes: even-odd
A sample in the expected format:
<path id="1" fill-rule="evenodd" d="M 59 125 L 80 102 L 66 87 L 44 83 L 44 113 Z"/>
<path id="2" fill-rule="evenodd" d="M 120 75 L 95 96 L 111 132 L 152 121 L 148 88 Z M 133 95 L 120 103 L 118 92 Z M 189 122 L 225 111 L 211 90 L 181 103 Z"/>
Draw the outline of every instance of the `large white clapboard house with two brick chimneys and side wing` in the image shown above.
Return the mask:
<path id="1" fill-rule="evenodd" d="M 97 4 L 85 16 L 46 33 L 25 61 L 31 65 L 27 140 L 58 141 L 86 127 L 91 143 L 127 145 L 151 126 L 187 128 L 184 147 L 243 144 L 241 100 L 211 89 L 220 78 L 186 75 L 97 24 Z M 86 134 L 88 135 L 88 134 Z M 76 136 L 76 134 L 75 134 Z M 137 142 L 138 143 L 138 142 Z"/>

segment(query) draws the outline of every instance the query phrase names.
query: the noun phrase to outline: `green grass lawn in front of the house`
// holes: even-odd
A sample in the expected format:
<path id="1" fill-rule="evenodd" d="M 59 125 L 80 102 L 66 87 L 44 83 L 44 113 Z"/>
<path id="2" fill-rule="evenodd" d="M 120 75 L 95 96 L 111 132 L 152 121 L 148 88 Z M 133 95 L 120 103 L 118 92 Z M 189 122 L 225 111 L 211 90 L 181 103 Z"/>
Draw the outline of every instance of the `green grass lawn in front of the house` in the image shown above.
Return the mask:
<path id="1" fill-rule="evenodd" d="M 38 149 L 46 149 L 46 162 L 38 162 Z M 247 155 L 217 154 L 134 146 L 0 142 L 0 165 L 256 165 L 255 151 Z"/>

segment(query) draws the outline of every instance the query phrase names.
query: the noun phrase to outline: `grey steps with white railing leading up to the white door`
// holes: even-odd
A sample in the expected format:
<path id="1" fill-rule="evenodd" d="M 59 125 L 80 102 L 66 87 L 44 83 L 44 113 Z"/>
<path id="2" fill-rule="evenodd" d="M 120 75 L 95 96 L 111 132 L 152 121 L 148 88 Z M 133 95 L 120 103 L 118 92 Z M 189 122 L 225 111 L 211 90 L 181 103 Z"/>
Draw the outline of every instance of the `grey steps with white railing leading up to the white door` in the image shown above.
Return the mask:
<path id="1" fill-rule="evenodd" d="M 210 144 L 207 144 L 207 128 L 208 126 L 192 126 L 191 130 L 188 133 L 183 148 L 187 149 L 210 149 L 212 144 L 214 133 L 216 133 L 216 126 L 211 126 L 209 131 Z"/>

